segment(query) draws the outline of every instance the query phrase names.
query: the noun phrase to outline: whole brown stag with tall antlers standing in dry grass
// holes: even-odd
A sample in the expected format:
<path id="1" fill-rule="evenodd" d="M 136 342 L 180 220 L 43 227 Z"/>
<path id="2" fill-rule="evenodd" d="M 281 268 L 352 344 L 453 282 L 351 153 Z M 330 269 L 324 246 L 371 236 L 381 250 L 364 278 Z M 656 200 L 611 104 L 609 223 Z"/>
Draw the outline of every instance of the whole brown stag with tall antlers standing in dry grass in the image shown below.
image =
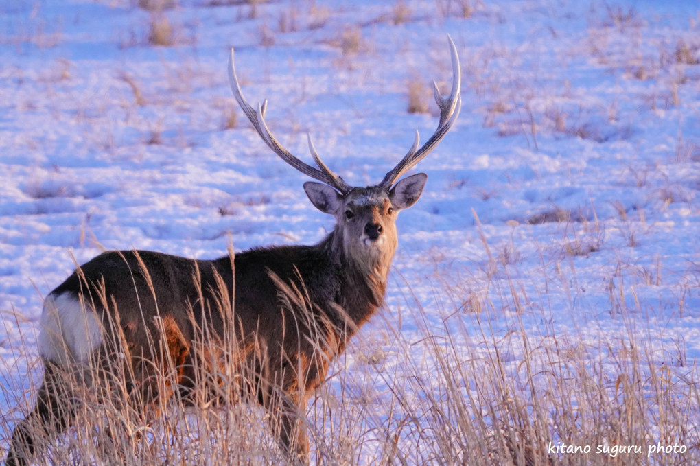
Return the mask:
<path id="1" fill-rule="evenodd" d="M 61 374 L 87 373 L 96 360 L 120 355 L 139 367 L 130 371 L 127 392 L 139 390 L 144 404 L 158 399 L 162 406 L 174 393 L 194 403 L 188 394 L 197 379 L 195 367 L 207 367 L 202 360 L 214 346 L 204 335 L 232 335 L 238 342 L 236 356 L 223 360 L 233 372 L 248 368 L 253 382 L 240 390 L 252 390 L 253 400 L 276 420 L 281 451 L 293 463 L 307 464 L 302 416 L 309 397 L 325 381 L 330 362 L 384 306 L 398 246 L 396 218 L 416 203 L 427 180 L 423 173 L 402 176 L 440 143 L 458 117 L 461 72 L 449 36 L 448 42 L 449 94 L 441 94 L 433 81 L 437 129 L 420 147 L 416 130 L 405 157 L 367 187 L 349 185 L 331 171 L 311 136 L 316 167 L 281 146 L 265 122 L 267 100 L 255 109 L 241 92 L 231 49 L 228 76 L 237 103 L 273 153 L 316 180 L 304 183 L 304 191 L 316 209 L 335 218 L 333 230 L 313 246 L 253 248 L 215 260 L 113 250 L 78 267 L 45 297 L 37 340 L 43 383 L 34 409 L 13 430 L 6 465 L 29 464 L 36 435 L 49 427 L 59 435 L 72 425 L 75 410 L 66 404 L 75 393 Z M 152 383 L 166 367 L 173 369 L 175 382 L 167 390 Z M 83 380 L 97 383 L 97 376 Z M 158 411 L 155 404 L 146 406 L 151 408 Z"/>

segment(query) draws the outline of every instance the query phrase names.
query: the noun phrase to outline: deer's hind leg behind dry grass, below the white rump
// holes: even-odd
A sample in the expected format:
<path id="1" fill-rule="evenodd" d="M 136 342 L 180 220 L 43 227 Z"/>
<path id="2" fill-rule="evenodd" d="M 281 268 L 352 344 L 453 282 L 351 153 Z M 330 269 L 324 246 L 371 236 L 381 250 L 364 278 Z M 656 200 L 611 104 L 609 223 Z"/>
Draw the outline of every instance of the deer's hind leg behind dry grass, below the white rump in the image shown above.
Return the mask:
<path id="1" fill-rule="evenodd" d="M 45 360 L 44 367 L 44 381 L 36 397 L 36 406 L 15 427 L 6 466 L 28 465 L 36 453 L 36 435 L 55 437 L 73 422 L 74 412 L 69 405 L 72 398 L 70 388 L 54 363 Z"/>

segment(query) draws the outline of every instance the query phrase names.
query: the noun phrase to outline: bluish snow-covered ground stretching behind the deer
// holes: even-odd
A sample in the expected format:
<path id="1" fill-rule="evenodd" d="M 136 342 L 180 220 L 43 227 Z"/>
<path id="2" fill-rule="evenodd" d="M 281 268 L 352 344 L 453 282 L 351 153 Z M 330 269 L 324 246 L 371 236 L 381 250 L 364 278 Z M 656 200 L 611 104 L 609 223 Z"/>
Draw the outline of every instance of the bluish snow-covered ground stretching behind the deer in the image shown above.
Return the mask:
<path id="1" fill-rule="evenodd" d="M 310 162 L 311 133 L 331 169 L 369 185 L 437 125 L 447 34 L 461 115 L 419 164 L 428 185 L 398 220 L 388 309 L 346 362 L 391 354 L 392 331 L 422 339 L 422 321 L 397 318 L 416 300 L 428 332 L 450 315 L 475 335 L 465 354 L 487 344 L 484 322 L 489 341 L 566 336 L 615 381 L 608 345 L 632 331 L 654 367 L 698 379 L 696 1 L 138 3 L 0 5 L 1 384 L 29 385 L 43 296 L 104 248 L 213 258 L 332 228 L 237 108 L 230 47 L 283 145 Z M 409 113 L 409 94 L 428 113 Z M 4 429 L 14 402 L 0 400 Z"/>

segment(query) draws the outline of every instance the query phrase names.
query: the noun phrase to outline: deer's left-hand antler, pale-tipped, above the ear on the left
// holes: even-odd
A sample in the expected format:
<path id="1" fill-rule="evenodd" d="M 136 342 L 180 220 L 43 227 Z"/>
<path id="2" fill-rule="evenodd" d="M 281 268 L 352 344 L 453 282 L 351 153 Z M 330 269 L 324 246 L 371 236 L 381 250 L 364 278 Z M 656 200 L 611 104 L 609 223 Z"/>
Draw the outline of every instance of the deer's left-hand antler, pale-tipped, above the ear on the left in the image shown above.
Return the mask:
<path id="1" fill-rule="evenodd" d="M 311 142 L 311 135 L 309 135 L 309 151 L 311 151 L 311 157 L 314 157 L 314 162 L 316 162 L 316 165 L 318 165 L 318 168 L 321 170 L 305 164 L 286 150 L 286 148 L 283 148 L 281 144 L 274 139 L 274 136 L 272 136 L 272 133 L 269 132 L 267 123 L 265 122 L 267 99 L 262 102 L 262 105 L 258 104 L 258 111 L 255 111 L 253 107 L 248 104 L 246 98 L 243 97 L 241 85 L 238 83 L 236 69 L 233 64 L 233 49 L 231 49 L 231 59 L 228 66 L 228 81 L 231 85 L 231 91 L 233 92 L 234 97 L 236 97 L 236 101 L 238 102 L 239 106 L 241 106 L 243 109 L 244 113 L 248 117 L 248 120 L 251 120 L 253 127 L 255 127 L 255 131 L 260 134 L 262 140 L 265 141 L 267 146 L 272 149 L 272 152 L 279 155 L 282 160 L 290 164 L 295 169 L 301 171 L 303 174 L 311 176 L 311 178 L 314 178 L 315 180 L 322 181 L 323 183 L 332 186 L 342 194 L 346 194 L 352 189 L 349 184 L 345 183 L 343 178 L 340 178 L 325 166 L 321 160 L 321 157 L 318 157 L 316 148 L 314 148 L 314 143 Z"/>

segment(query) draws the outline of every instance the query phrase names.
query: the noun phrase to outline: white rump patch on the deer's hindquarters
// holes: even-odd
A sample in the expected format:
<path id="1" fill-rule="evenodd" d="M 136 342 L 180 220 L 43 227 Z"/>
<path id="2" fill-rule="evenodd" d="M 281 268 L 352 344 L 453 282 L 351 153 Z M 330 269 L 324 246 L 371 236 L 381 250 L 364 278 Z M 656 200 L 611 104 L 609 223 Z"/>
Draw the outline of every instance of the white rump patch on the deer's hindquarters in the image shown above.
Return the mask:
<path id="1" fill-rule="evenodd" d="M 100 344 L 102 325 L 89 306 L 67 292 L 46 297 L 37 342 L 43 358 L 62 365 L 87 362 Z"/>

